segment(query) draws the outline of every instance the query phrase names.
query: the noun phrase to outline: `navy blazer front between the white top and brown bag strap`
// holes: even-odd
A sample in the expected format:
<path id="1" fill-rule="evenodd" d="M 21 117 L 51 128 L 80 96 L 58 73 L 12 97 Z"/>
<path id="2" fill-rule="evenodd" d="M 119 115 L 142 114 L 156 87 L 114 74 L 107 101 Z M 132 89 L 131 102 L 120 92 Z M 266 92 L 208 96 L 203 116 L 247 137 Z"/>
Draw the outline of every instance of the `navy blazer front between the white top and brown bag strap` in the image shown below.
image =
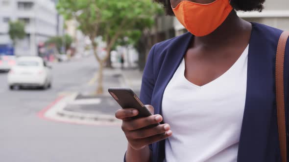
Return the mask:
<path id="1" fill-rule="evenodd" d="M 238 162 L 276 162 L 265 159 L 277 132 L 275 110 L 274 38 L 253 23 L 249 44 L 246 103 L 241 128 Z M 275 137 L 273 139 L 269 139 Z M 278 139 L 277 139 L 278 140 Z M 278 142 L 278 141 L 277 141 Z"/>

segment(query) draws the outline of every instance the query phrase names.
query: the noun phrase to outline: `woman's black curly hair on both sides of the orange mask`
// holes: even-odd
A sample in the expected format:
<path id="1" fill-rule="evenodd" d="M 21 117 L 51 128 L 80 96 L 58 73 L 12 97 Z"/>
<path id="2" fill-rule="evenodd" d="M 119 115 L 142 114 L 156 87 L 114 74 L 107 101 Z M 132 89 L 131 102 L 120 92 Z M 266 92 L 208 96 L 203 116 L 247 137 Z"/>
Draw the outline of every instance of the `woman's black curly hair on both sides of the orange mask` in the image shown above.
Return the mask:
<path id="1" fill-rule="evenodd" d="M 170 0 L 154 0 L 163 5 L 167 15 L 174 15 Z M 230 3 L 236 11 L 259 11 L 264 9 L 265 0 L 231 0 Z"/>

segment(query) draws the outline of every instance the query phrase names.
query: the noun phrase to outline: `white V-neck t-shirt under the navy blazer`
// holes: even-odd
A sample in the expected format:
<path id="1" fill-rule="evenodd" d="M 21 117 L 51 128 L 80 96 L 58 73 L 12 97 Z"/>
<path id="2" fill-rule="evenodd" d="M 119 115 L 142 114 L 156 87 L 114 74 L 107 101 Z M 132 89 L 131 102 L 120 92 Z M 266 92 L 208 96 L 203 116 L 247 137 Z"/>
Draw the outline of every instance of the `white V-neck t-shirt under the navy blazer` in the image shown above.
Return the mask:
<path id="1" fill-rule="evenodd" d="M 248 46 L 223 75 L 203 86 L 188 81 L 181 62 L 164 92 L 172 130 L 165 162 L 237 162 L 246 99 Z"/>

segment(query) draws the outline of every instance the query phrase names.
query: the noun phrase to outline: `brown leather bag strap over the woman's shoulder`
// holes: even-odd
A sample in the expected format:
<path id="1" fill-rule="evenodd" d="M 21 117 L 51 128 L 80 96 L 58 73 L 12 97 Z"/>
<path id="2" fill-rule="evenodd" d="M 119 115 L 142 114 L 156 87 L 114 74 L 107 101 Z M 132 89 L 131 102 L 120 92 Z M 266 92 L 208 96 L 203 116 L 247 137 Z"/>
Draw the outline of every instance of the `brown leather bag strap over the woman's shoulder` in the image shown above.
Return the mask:
<path id="1" fill-rule="evenodd" d="M 280 36 L 276 55 L 276 101 L 277 101 L 277 120 L 278 133 L 282 162 L 287 162 L 286 148 L 286 121 L 284 104 L 284 56 L 286 42 L 289 32 L 283 32 Z"/>

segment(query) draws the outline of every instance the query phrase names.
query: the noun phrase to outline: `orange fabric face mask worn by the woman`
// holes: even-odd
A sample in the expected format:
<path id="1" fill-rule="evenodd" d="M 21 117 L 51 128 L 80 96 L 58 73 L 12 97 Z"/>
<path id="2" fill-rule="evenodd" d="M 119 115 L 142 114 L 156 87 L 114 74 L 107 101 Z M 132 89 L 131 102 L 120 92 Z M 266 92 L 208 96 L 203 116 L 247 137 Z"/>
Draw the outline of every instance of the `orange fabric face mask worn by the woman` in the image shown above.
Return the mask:
<path id="1" fill-rule="evenodd" d="M 197 37 L 215 31 L 226 20 L 232 9 L 229 0 L 216 0 L 208 4 L 184 0 L 172 8 L 181 24 Z"/>

